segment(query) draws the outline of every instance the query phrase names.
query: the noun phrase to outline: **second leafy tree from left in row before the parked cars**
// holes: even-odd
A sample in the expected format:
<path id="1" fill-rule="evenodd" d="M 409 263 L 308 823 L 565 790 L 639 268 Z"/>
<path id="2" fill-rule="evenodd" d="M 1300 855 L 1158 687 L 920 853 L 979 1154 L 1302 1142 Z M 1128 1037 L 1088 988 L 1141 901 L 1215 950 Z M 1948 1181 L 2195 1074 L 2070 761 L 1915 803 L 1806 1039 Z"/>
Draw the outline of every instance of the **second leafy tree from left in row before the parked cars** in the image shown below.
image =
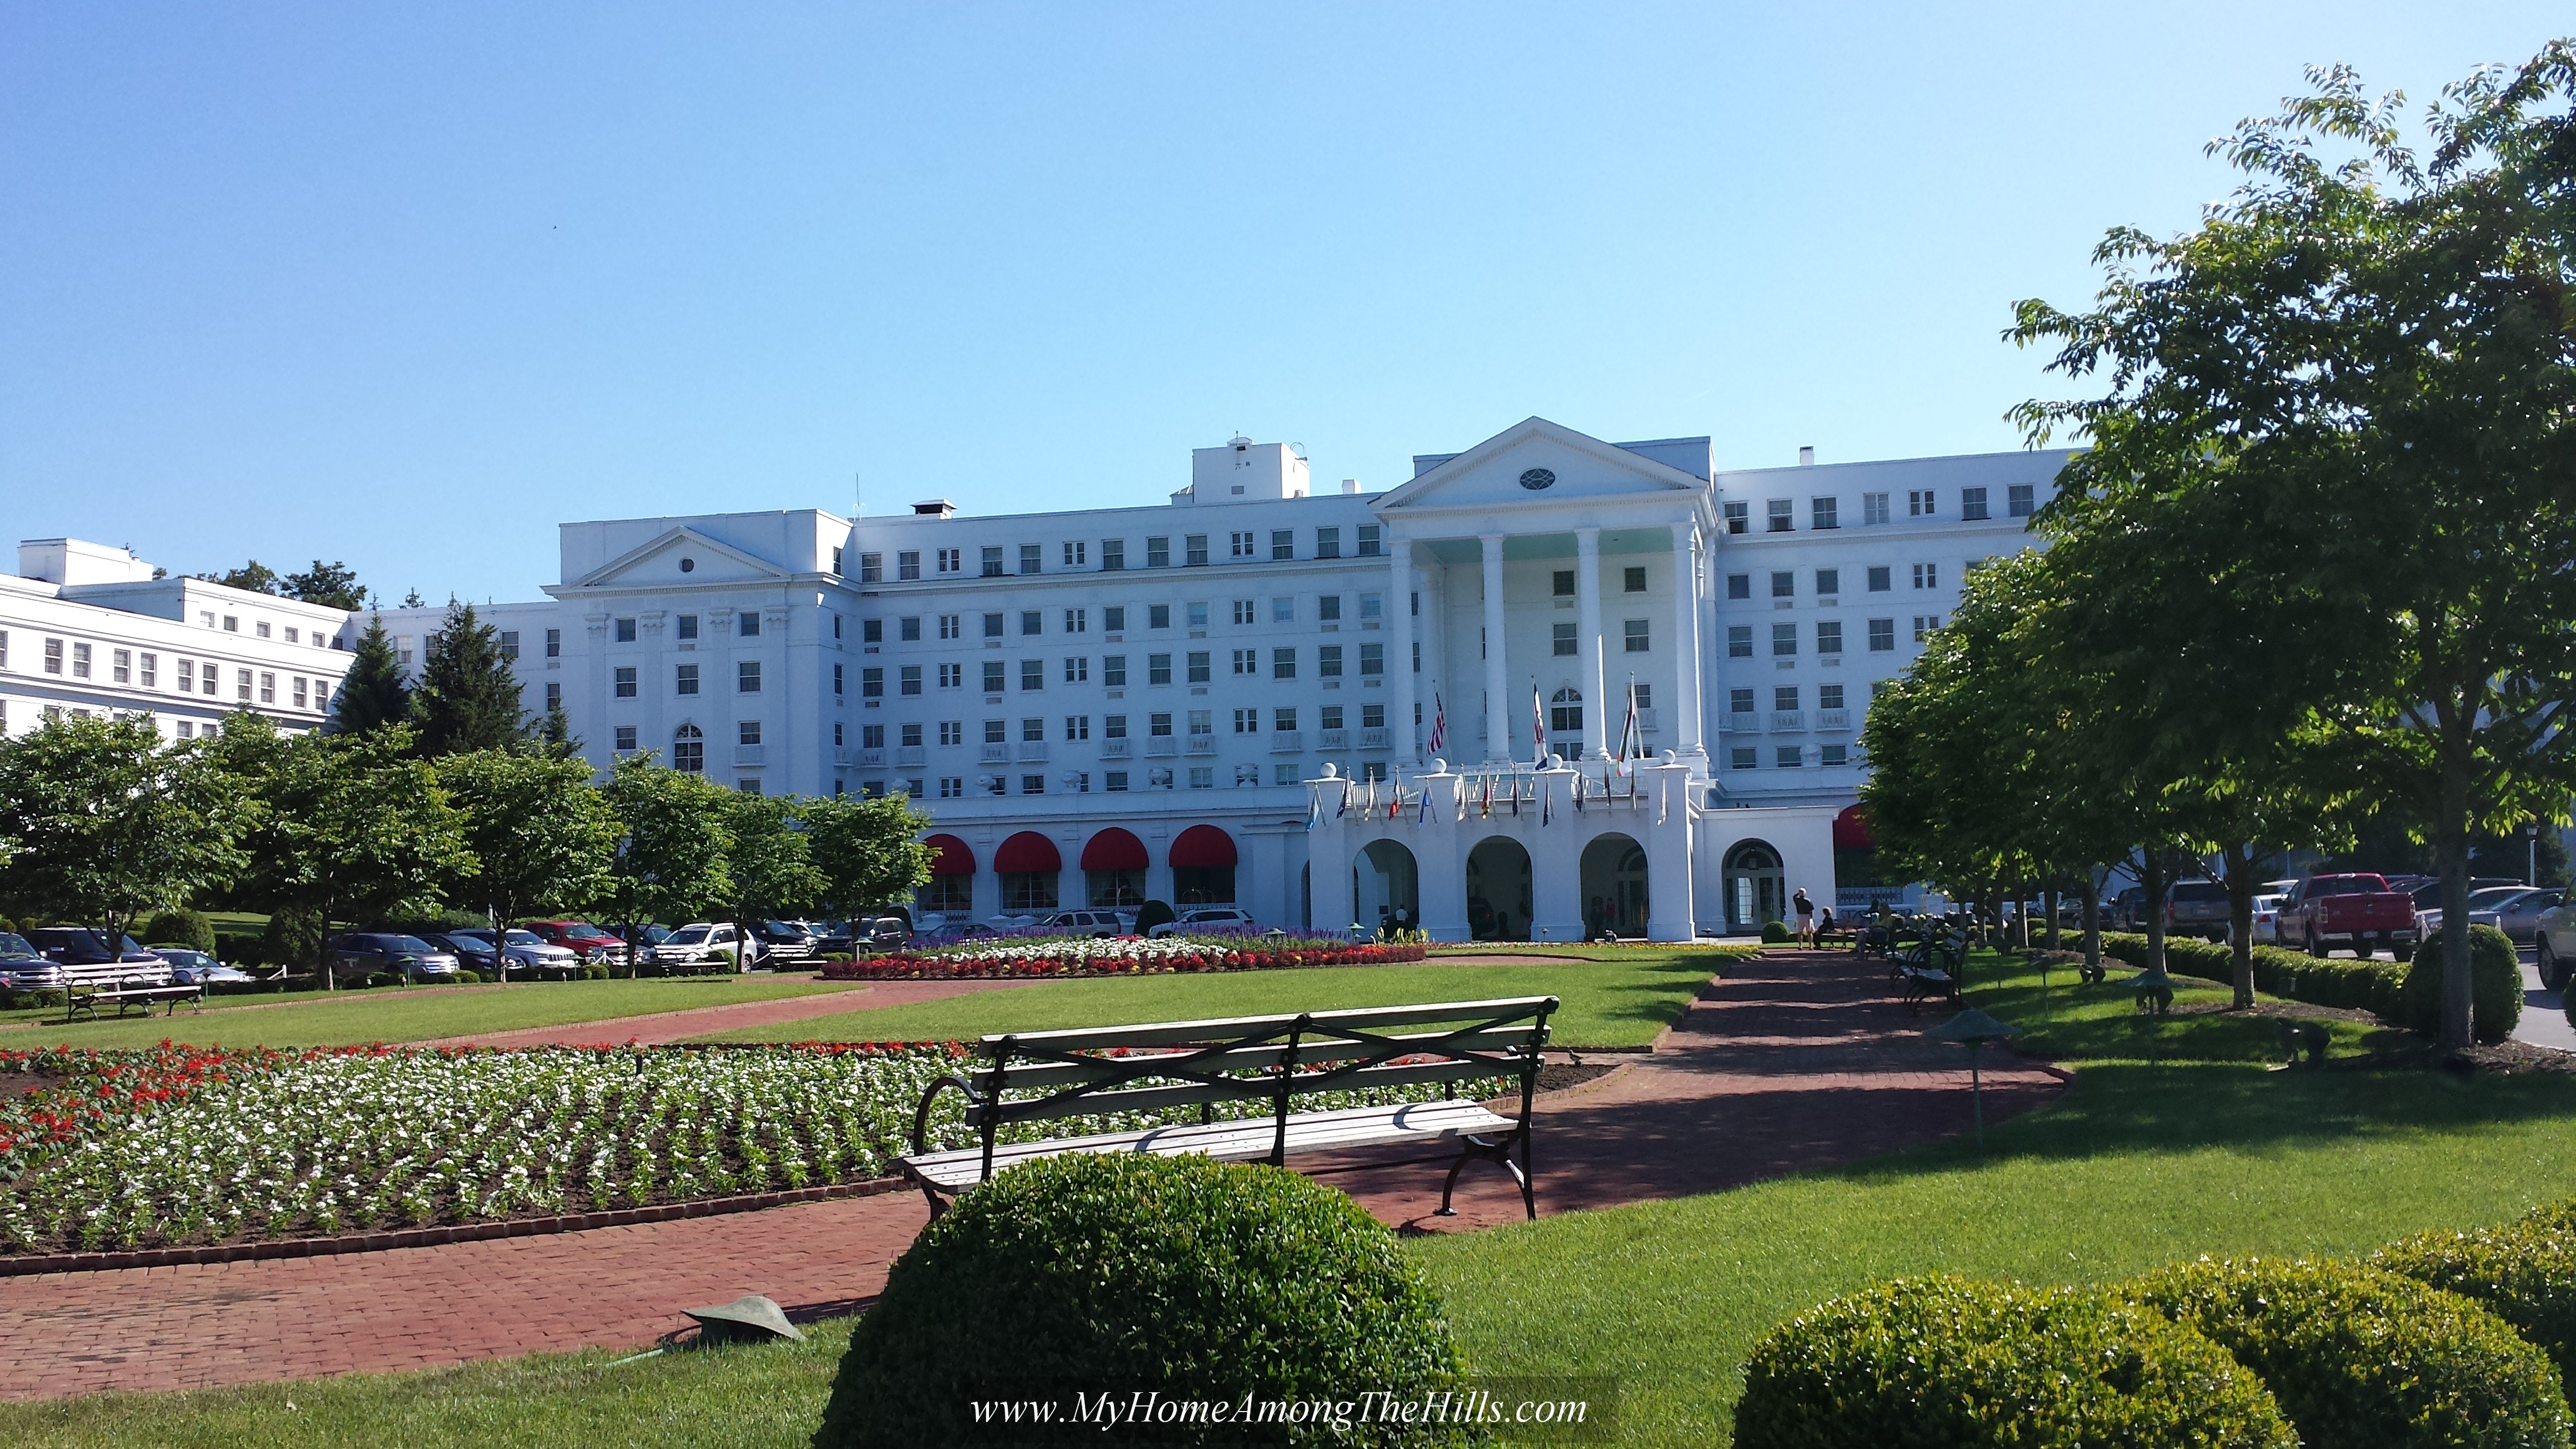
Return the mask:
<path id="1" fill-rule="evenodd" d="M 438 773 L 412 758 L 407 724 L 281 735 L 258 714 L 232 714 L 214 753 L 265 804 L 245 841 L 252 890 L 273 908 L 312 913 L 325 938 L 332 920 L 430 915 L 440 887 L 477 869 L 464 817 Z M 330 972 L 319 975 L 330 990 Z"/>

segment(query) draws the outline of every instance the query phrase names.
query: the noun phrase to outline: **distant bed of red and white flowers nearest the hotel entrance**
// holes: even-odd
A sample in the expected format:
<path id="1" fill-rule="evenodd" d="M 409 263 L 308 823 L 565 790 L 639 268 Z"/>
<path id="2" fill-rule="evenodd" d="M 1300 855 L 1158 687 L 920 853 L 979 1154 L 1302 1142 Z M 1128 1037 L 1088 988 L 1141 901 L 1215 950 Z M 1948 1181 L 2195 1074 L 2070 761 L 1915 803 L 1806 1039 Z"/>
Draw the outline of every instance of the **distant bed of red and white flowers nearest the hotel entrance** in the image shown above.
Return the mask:
<path id="1" fill-rule="evenodd" d="M 984 977 L 1141 977 L 1167 972 L 1265 972 L 1283 967 L 1383 967 L 1419 962 L 1422 946 L 1270 936 L 1082 938 L 1041 936 L 966 941 L 935 951 L 896 951 L 827 962 L 822 980 L 984 980 Z"/>

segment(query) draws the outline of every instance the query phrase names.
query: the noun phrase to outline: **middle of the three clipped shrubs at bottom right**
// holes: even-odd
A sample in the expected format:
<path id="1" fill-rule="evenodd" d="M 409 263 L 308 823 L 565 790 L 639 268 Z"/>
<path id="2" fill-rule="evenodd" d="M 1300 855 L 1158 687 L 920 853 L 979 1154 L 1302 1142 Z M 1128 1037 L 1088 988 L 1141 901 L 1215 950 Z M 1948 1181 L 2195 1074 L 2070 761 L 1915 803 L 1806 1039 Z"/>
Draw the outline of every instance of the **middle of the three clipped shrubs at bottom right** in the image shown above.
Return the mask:
<path id="1" fill-rule="evenodd" d="M 2306 1444 L 2568 1444 L 2558 1369 L 2476 1302 L 2362 1263 L 2200 1258 L 2128 1292 L 2208 1333 L 2280 1400 Z"/>

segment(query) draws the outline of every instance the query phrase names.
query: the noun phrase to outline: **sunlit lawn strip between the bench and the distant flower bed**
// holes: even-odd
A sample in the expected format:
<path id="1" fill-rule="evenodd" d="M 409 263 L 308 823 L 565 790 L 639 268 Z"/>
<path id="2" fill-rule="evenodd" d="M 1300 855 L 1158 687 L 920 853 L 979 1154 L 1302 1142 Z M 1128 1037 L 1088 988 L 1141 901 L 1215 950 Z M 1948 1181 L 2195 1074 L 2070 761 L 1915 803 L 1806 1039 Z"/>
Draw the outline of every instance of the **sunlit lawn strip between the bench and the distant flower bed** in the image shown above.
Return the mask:
<path id="1" fill-rule="evenodd" d="M 1607 954 L 1607 959 L 1533 959 L 1528 964 L 1440 964 L 1432 959 L 1419 967 L 1097 977 L 1030 982 L 914 1006 L 855 1008 L 783 1026 L 724 1031 L 706 1036 L 706 1042 L 953 1042 L 987 1031 L 1553 995 L 1564 1000 L 1564 1011 L 1551 1018 L 1558 1044 L 1643 1047 L 1682 1013 L 1682 1006 L 1723 964 L 1726 957 L 1716 951 L 1620 951 Z"/>

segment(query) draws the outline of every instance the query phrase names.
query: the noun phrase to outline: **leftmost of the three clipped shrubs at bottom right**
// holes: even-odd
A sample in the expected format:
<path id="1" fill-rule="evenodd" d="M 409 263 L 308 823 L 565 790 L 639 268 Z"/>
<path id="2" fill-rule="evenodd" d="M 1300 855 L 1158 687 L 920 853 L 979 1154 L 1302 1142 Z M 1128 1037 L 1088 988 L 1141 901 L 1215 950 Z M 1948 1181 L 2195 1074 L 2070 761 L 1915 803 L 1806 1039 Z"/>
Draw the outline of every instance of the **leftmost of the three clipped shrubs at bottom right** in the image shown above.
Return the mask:
<path id="1" fill-rule="evenodd" d="M 1770 1330 L 1736 1449 L 2293 1449 L 2272 1395 L 2161 1312 L 2084 1289 L 1896 1279 Z"/>

